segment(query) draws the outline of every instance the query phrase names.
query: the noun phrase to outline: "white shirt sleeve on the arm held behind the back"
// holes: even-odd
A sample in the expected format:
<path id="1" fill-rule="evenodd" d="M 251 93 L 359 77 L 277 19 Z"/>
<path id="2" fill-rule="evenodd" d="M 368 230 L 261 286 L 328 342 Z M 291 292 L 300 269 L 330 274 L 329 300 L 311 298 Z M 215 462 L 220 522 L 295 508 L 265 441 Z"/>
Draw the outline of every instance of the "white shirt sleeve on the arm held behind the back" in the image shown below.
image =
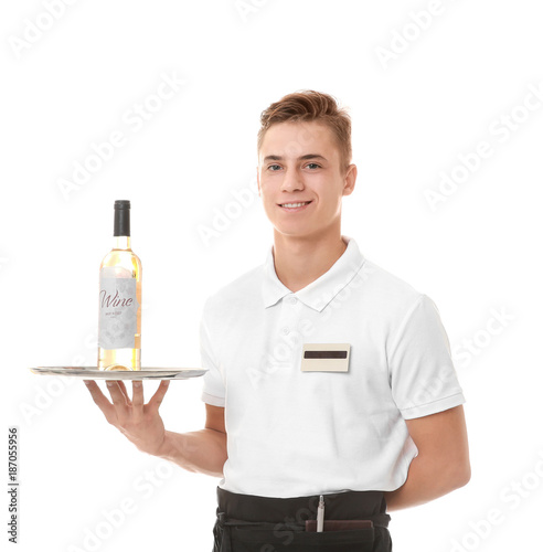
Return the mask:
<path id="1" fill-rule="evenodd" d="M 404 420 L 428 416 L 466 402 L 439 311 L 424 294 L 393 338 L 388 368 L 392 394 Z"/>

